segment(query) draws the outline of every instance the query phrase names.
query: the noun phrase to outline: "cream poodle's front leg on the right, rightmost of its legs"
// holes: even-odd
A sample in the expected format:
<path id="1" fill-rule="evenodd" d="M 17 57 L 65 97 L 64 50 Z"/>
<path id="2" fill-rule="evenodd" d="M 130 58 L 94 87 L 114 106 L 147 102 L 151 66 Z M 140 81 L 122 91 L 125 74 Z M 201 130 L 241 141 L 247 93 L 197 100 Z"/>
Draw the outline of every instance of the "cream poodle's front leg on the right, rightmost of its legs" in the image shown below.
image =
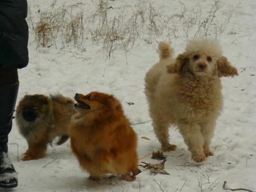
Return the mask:
<path id="1" fill-rule="evenodd" d="M 208 119 L 202 124 L 201 133 L 204 136 L 204 154 L 206 157 L 213 156 L 213 152 L 210 151 L 209 145 L 211 144 L 214 128 L 216 125 L 216 118 Z"/>

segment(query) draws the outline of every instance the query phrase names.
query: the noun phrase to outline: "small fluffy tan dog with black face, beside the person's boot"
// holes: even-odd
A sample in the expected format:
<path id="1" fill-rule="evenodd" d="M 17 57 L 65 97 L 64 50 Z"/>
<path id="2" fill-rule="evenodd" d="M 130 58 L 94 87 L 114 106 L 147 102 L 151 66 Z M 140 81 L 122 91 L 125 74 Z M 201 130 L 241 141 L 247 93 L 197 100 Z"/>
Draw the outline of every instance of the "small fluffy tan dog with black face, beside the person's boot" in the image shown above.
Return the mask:
<path id="1" fill-rule="evenodd" d="M 44 157 L 47 144 L 57 136 L 61 136 L 58 145 L 69 138 L 67 127 L 76 113 L 73 104 L 72 99 L 62 95 L 26 95 L 20 100 L 15 119 L 29 145 L 22 160 Z"/>

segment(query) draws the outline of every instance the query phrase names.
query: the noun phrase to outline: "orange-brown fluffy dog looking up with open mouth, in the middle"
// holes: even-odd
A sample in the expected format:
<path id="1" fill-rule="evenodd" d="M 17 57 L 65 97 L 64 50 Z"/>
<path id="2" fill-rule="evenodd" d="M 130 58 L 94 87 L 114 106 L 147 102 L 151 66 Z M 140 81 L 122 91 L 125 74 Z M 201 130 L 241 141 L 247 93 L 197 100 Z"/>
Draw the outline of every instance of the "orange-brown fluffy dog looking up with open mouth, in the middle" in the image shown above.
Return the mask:
<path id="1" fill-rule="evenodd" d="M 92 92 L 77 94 L 78 113 L 71 119 L 68 133 L 71 148 L 91 179 L 106 173 L 134 180 L 137 169 L 137 135 L 125 117 L 120 102 L 111 95 Z M 133 175 L 130 175 L 130 172 Z"/>

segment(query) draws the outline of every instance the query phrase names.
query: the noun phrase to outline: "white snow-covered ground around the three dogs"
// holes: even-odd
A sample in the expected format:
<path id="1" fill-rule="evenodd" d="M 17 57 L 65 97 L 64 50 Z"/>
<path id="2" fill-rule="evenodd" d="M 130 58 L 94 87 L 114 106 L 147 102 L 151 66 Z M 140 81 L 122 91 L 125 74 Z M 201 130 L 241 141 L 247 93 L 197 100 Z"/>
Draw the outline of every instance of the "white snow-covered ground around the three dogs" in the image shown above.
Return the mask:
<path id="1" fill-rule="evenodd" d="M 34 25 L 40 15 L 39 12 L 51 9 L 50 5 L 53 2 L 52 0 L 28 0 L 29 18 L 33 19 Z M 87 22 L 87 17 L 93 14 L 98 2 L 98 0 L 57 0 L 55 7 L 65 5 L 72 8 L 74 12 L 82 10 L 85 15 L 84 20 Z M 125 5 L 135 10 L 136 6 L 143 4 L 140 0 L 109 0 L 107 2 L 112 7 L 108 10 L 109 18 L 112 19 L 114 16 L 117 17 L 115 13 L 119 14 L 121 7 Z M 75 93 L 86 94 L 96 90 L 114 94 L 122 101 L 125 114 L 131 123 L 143 122 L 132 126 L 138 136 L 139 157 L 160 150 L 160 143 L 154 135 L 148 115 L 148 104 L 143 93 L 145 73 L 158 61 L 156 41 L 171 40 L 175 54 L 181 53 L 187 40 L 186 24 L 182 22 L 193 7 L 199 6 L 201 9 L 199 16 L 203 22 L 214 1 L 151 0 L 150 2 L 161 15 L 179 15 L 175 16 L 176 20 L 174 17 L 171 18 L 174 20 L 169 22 L 169 26 L 164 26 L 163 34 L 148 35 L 148 29 L 145 27 L 144 33 L 137 37 L 130 51 L 125 52 L 120 46 L 113 51 L 110 59 L 106 59 L 103 41 L 100 39 L 97 45 L 91 40 L 90 33 L 87 33 L 91 23 L 84 28 L 86 32 L 84 32 L 82 46 L 85 50 L 74 46 L 61 49 L 61 42 L 58 39 L 56 39 L 57 49 L 54 45 L 36 49 L 35 33 L 30 28 L 30 61 L 28 67 L 19 71 L 20 89 L 17 102 L 25 94 L 35 93 L 46 95 L 62 93 L 64 96 L 73 97 Z M 88 180 L 89 175 L 80 169 L 78 161 L 71 153 L 69 142 L 61 146 L 49 146 L 46 157 L 42 159 L 17 161 L 17 154 L 18 157 L 22 157 L 27 149 L 27 143 L 18 133 L 14 121 L 12 132 L 9 134 L 9 155 L 19 176 L 19 186 L 14 191 L 221 192 L 224 191 L 222 189 L 224 181 L 227 181 L 228 188 L 256 191 L 256 1 L 224 0 L 222 2 L 224 4 L 216 13 L 220 22 L 221 17 L 224 18 L 232 7 L 236 7 L 224 32 L 218 36 L 218 40 L 223 47 L 224 55 L 238 68 L 239 76 L 233 79 L 222 79 L 224 111 L 218 119 L 215 136 L 210 146 L 214 156 L 208 157 L 201 163 L 203 165 L 187 166 L 196 163 L 191 160 L 191 154 L 179 132 L 175 128 L 170 128 L 171 143 L 177 145 L 176 151 L 165 153 L 168 156 L 165 170 L 170 175 L 152 175 L 149 170 L 140 168 L 142 173 L 133 182 L 107 179 L 96 182 Z M 185 19 L 181 14 L 184 7 L 187 10 Z M 124 12 L 124 14 L 126 14 L 125 17 L 130 17 L 132 12 Z M 31 27 L 31 22 L 29 26 Z M 167 29 L 172 32 L 169 36 Z M 197 29 L 198 26 L 189 28 L 187 30 L 189 37 L 192 37 Z M 134 105 L 128 105 L 127 102 L 134 102 Z M 148 137 L 150 140 L 144 140 L 141 137 Z M 16 144 L 18 144 L 18 151 Z M 159 162 L 151 159 L 150 156 L 143 158 L 139 163 L 141 161 Z M 47 163 L 50 164 L 47 165 Z M 184 164 L 186 166 L 180 166 Z"/>

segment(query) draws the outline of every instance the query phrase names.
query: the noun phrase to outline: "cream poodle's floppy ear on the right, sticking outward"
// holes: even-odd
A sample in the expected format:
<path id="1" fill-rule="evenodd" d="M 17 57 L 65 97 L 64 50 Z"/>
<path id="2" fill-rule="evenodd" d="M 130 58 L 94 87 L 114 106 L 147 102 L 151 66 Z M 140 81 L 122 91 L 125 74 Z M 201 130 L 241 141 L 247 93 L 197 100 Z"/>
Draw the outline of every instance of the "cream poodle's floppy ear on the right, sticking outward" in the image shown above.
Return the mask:
<path id="1" fill-rule="evenodd" d="M 236 67 L 233 67 L 224 56 L 217 61 L 217 67 L 219 77 L 238 76 Z"/>

